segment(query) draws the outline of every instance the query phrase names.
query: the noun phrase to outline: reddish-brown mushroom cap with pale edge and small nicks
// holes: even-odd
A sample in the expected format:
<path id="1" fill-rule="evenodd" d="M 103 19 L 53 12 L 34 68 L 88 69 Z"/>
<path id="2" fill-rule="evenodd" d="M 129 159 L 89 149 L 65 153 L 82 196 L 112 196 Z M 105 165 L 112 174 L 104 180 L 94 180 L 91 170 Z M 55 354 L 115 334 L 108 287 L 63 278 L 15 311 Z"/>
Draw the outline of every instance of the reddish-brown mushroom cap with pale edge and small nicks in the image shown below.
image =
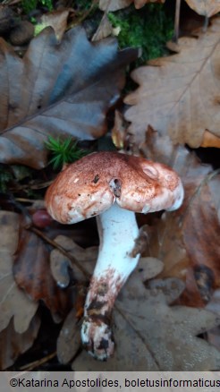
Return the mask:
<path id="1" fill-rule="evenodd" d="M 180 177 L 168 166 L 113 151 L 89 154 L 67 166 L 47 189 L 49 214 L 72 224 L 109 209 L 154 212 L 182 204 Z"/>

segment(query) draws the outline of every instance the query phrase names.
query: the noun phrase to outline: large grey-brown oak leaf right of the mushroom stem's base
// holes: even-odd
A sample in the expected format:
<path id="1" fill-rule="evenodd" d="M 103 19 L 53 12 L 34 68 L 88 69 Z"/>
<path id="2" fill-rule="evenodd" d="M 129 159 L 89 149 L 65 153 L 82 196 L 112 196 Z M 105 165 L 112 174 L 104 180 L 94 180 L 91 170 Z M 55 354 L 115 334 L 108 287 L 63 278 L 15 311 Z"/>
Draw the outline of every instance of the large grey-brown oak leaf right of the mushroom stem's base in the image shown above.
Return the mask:
<path id="1" fill-rule="evenodd" d="M 138 288 L 138 290 L 136 290 Z M 182 282 L 167 279 L 164 290 L 141 287 L 136 270 L 114 307 L 114 357 L 97 362 L 85 352 L 74 371 L 207 371 L 220 368 L 219 352 L 199 337 L 219 324 L 209 311 L 169 306 Z"/>

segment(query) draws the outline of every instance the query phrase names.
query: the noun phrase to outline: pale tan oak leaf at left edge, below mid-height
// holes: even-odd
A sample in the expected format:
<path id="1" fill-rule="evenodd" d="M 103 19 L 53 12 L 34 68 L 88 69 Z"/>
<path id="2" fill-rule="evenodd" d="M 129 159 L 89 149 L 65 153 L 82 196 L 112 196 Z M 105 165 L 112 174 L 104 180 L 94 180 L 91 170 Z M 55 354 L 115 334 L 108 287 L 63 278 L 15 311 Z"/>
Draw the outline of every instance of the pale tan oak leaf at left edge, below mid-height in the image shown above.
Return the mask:
<path id="1" fill-rule="evenodd" d="M 24 333 L 38 309 L 38 304 L 16 285 L 13 278 L 13 260 L 19 240 L 20 217 L 9 211 L 0 211 L 0 331 L 13 319 L 15 332 Z"/>

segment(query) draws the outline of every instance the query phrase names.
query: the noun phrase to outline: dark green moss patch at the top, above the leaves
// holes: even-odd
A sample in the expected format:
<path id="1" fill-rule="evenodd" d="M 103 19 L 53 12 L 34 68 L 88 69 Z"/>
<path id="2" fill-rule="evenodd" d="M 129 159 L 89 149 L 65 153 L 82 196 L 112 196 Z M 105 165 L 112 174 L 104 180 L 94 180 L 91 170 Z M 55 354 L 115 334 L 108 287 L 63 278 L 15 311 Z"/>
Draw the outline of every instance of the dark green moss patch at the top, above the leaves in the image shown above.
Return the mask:
<path id="1" fill-rule="evenodd" d="M 147 4 L 140 10 L 108 13 L 114 28 L 120 28 L 119 47 L 141 47 L 140 63 L 165 55 L 165 43 L 173 37 L 173 19 L 162 4 Z"/>

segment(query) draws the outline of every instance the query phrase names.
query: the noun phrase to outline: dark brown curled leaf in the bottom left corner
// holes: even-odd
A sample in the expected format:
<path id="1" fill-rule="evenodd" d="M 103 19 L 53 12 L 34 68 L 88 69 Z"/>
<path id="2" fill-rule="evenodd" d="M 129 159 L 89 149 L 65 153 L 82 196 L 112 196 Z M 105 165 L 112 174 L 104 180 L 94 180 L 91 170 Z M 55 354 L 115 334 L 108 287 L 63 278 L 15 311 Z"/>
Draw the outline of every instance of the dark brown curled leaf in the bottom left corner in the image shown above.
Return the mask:
<path id="1" fill-rule="evenodd" d="M 29 328 L 19 334 L 13 328 L 13 321 L 0 333 L 0 370 L 13 365 L 13 362 L 27 351 L 33 344 L 35 338 L 38 336 L 38 329 L 40 327 L 40 320 L 38 316 L 30 321 Z"/>

